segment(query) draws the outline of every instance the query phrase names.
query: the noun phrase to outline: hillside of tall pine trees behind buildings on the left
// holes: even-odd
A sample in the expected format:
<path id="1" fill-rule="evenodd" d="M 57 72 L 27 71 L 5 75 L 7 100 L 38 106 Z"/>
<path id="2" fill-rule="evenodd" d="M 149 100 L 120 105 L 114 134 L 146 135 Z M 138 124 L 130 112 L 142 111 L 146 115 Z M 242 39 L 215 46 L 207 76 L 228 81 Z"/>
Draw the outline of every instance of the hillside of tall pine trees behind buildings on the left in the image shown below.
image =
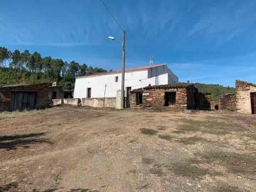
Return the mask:
<path id="1" fill-rule="evenodd" d="M 80 65 L 75 61 L 68 63 L 50 56 L 42 57 L 38 52 L 11 52 L 5 47 L 0 47 L 0 86 L 57 81 L 65 85 L 66 90 L 72 90 L 76 75 L 106 71 L 86 64 Z"/>

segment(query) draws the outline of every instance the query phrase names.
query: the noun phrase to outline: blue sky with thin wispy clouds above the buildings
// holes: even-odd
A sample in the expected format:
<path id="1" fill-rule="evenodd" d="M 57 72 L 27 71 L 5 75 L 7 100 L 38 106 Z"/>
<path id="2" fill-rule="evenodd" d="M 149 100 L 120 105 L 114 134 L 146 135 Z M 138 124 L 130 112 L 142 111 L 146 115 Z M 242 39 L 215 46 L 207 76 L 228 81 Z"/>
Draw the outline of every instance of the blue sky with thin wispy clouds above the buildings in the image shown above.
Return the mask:
<path id="1" fill-rule="evenodd" d="M 126 68 L 166 63 L 180 81 L 256 82 L 256 1 L 105 0 L 126 30 Z M 100 0 L 3 1 L 0 46 L 120 69 L 122 31 Z"/>

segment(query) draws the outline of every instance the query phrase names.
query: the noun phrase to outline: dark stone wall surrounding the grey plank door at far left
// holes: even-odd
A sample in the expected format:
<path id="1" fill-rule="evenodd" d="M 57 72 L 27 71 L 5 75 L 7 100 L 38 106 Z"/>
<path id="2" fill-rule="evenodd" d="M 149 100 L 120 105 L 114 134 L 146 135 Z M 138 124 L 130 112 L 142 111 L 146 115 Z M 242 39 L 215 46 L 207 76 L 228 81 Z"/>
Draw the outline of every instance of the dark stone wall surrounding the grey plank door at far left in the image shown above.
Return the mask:
<path id="1" fill-rule="evenodd" d="M 11 106 L 12 91 L 36 92 L 36 108 L 46 108 L 49 105 L 48 83 L 0 87 L 0 110 L 9 110 Z"/>

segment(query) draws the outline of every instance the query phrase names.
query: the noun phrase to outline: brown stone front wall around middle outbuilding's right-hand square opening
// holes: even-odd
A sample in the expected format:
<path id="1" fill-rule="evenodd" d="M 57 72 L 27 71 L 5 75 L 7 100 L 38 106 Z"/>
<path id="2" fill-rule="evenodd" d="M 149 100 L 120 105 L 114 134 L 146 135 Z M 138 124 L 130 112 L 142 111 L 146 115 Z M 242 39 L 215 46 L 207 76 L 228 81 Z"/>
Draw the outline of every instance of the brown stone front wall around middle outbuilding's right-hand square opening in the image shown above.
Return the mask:
<path id="1" fill-rule="evenodd" d="M 165 92 L 176 92 L 176 104 L 168 106 L 172 110 L 187 109 L 187 89 L 168 88 L 168 89 L 148 89 L 143 92 L 143 106 L 156 109 L 163 108 L 165 105 Z"/>

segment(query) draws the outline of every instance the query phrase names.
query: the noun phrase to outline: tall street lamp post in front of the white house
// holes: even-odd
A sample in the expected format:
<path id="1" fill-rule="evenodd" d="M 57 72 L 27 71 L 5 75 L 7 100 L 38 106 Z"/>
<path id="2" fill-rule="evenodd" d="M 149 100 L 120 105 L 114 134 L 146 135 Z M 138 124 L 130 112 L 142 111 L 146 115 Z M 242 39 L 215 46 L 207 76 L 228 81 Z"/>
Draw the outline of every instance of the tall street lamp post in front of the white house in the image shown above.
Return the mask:
<path id="1" fill-rule="evenodd" d="M 121 109 L 125 108 L 125 102 L 124 102 L 124 71 L 125 71 L 125 30 L 123 31 L 123 57 L 122 57 L 122 85 L 121 85 Z M 114 37 L 108 37 L 109 40 L 116 40 Z M 120 42 L 120 41 L 119 41 Z"/>

